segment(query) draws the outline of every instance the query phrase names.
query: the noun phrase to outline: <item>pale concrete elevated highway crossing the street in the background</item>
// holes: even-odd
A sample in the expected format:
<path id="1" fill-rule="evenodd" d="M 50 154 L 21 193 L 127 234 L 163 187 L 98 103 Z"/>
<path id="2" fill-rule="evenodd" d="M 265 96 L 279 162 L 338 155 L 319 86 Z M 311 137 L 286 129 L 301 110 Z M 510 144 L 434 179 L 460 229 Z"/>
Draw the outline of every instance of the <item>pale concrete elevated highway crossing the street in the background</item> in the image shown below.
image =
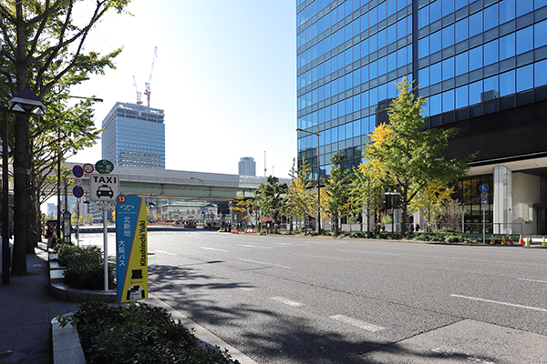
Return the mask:
<path id="1" fill-rule="evenodd" d="M 69 170 L 82 163 L 65 163 Z M 150 169 L 136 167 L 114 167 L 111 175 L 119 176 L 119 191 L 125 195 L 171 199 L 205 199 L 209 201 L 231 201 L 234 197 L 253 197 L 254 190 L 263 177 L 247 177 L 221 173 L 191 172 L 172 169 Z M 201 183 L 203 181 L 203 183 Z M 289 178 L 280 182 L 290 183 Z M 89 177 L 82 177 L 82 187 L 88 194 Z M 68 186 L 68 193 L 71 194 Z"/>

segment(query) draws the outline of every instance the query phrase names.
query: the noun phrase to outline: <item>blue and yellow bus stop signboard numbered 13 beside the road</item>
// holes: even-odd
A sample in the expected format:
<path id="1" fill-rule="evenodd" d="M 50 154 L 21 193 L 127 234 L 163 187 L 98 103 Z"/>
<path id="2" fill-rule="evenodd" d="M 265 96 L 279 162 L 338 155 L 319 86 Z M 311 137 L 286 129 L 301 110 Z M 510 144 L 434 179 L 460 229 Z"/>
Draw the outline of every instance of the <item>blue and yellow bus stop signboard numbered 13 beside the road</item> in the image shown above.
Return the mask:
<path id="1" fill-rule="evenodd" d="M 147 207 L 134 195 L 119 195 L 116 204 L 118 302 L 148 299 Z"/>

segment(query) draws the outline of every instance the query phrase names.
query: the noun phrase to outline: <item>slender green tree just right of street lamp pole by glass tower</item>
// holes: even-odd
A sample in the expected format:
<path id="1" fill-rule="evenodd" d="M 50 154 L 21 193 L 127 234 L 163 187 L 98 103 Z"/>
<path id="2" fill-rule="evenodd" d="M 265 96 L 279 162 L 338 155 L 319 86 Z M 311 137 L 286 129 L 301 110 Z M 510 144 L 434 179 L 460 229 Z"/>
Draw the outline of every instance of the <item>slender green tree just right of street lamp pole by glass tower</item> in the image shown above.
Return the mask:
<path id="1" fill-rule="evenodd" d="M 335 152 L 331 157 L 330 177 L 325 183 L 325 212 L 335 227 L 335 235 L 338 236 L 338 220 L 346 217 L 351 212 L 351 178 L 348 168 L 343 166 L 346 156 Z"/>

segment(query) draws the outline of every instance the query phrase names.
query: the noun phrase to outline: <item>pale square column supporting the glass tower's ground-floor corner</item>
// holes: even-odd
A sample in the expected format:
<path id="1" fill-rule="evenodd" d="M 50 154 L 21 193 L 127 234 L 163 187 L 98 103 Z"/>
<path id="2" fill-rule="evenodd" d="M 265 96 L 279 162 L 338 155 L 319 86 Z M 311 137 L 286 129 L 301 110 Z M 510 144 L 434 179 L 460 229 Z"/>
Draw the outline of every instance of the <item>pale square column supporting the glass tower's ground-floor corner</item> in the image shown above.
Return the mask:
<path id="1" fill-rule="evenodd" d="M 505 166 L 494 167 L 494 234 L 511 234 L 512 173 Z"/>

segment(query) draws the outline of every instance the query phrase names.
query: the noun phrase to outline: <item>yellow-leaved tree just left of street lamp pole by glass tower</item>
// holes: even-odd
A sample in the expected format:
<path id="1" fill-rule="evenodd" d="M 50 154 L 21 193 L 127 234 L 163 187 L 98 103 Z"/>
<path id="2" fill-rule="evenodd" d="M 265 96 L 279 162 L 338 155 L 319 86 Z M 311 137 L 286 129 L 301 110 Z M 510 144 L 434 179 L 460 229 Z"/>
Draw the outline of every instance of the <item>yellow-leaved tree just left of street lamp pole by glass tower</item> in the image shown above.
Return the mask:
<path id="1" fill-rule="evenodd" d="M 293 161 L 294 162 L 294 161 Z M 301 167 L 291 171 L 291 185 L 288 188 L 284 213 L 287 216 L 298 217 L 304 221 L 304 231 L 307 228 L 306 217 L 312 212 L 317 196 L 311 191 L 313 182 L 310 179 L 312 167 L 309 162 L 302 158 Z M 292 227 L 292 225 L 291 225 Z"/>

